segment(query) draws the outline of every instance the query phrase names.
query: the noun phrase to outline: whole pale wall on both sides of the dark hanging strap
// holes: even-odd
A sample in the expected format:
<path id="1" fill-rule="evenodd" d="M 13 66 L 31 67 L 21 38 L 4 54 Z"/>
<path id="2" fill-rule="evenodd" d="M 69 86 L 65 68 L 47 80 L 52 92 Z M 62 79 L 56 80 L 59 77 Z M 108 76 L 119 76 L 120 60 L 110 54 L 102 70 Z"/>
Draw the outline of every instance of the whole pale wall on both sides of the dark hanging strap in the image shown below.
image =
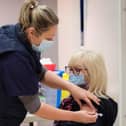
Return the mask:
<path id="1" fill-rule="evenodd" d="M 79 0 L 58 1 L 59 67 L 79 48 Z M 120 0 L 87 0 L 85 48 L 101 52 L 108 70 L 108 93 L 120 95 Z M 119 125 L 117 119 L 116 126 Z"/>

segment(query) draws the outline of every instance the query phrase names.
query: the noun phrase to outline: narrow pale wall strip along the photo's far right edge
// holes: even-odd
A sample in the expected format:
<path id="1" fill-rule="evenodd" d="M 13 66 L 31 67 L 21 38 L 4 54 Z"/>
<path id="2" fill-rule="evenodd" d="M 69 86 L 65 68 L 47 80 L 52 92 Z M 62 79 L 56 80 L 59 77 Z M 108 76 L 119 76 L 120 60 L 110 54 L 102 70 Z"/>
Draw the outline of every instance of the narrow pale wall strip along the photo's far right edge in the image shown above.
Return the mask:
<path id="1" fill-rule="evenodd" d="M 121 9 L 121 16 L 122 16 L 122 43 L 121 43 L 121 82 L 122 82 L 122 86 L 121 86 L 121 105 L 120 105 L 120 118 L 122 119 L 120 121 L 120 124 L 122 126 L 126 125 L 126 0 L 122 0 L 122 9 Z"/>

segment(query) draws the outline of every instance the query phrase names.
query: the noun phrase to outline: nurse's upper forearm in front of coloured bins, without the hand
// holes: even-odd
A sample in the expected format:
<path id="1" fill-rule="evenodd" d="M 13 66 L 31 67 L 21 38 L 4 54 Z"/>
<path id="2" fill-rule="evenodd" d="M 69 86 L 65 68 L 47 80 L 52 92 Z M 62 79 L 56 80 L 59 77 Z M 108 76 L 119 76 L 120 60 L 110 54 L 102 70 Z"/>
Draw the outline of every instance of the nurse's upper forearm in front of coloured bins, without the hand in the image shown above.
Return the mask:
<path id="1" fill-rule="evenodd" d="M 60 89 L 65 89 L 69 90 L 74 86 L 70 82 L 61 79 L 61 77 L 57 76 L 54 72 L 52 71 L 47 71 L 45 73 L 44 80 L 42 83 L 52 87 L 52 88 L 60 88 Z"/>

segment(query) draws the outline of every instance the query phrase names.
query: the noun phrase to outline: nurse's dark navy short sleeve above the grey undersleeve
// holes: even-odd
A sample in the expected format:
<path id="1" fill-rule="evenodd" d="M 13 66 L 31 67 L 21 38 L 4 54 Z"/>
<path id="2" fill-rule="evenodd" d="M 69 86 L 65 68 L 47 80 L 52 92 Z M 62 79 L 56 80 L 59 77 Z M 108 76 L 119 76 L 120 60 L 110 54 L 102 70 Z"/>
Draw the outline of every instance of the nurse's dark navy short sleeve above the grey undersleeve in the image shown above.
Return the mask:
<path id="1" fill-rule="evenodd" d="M 39 77 L 33 71 L 30 62 L 19 53 L 11 53 L 1 59 L 1 74 L 5 94 L 9 96 L 27 96 L 38 92 Z"/>

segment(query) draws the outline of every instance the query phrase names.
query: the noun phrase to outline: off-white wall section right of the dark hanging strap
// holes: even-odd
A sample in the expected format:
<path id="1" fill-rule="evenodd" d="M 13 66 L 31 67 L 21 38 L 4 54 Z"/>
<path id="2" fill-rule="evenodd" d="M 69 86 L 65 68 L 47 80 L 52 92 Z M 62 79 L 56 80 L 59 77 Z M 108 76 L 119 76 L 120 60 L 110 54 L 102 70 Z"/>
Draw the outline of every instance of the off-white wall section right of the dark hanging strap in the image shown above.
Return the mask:
<path id="1" fill-rule="evenodd" d="M 85 47 L 104 56 L 108 70 L 108 93 L 116 99 L 121 86 L 119 12 L 119 0 L 87 0 Z"/>

